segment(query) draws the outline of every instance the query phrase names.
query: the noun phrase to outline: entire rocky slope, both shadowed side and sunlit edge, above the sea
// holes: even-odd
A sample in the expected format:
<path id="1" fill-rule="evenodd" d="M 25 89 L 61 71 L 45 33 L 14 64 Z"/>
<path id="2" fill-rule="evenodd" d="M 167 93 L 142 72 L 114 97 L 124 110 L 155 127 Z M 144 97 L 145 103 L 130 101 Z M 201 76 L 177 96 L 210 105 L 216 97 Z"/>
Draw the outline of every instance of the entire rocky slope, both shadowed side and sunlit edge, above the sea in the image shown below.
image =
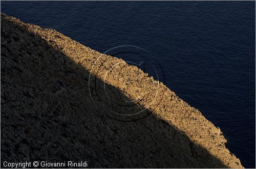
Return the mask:
<path id="1" fill-rule="evenodd" d="M 137 67 L 1 14 L 2 161 L 242 167 L 225 143 L 199 110 Z"/>

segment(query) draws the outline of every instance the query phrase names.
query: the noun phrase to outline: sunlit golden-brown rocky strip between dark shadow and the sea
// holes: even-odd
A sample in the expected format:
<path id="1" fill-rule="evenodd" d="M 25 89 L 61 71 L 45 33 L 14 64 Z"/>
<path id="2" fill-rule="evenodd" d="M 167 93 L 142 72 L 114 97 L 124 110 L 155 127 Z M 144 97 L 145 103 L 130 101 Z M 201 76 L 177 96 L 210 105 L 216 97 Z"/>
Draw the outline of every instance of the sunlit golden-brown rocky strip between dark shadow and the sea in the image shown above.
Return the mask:
<path id="1" fill-rule="evenodd" d="M 83 67 L 88 72 L 91 71 L 97 78 L 105 81 L 110 86 L 118 88 L 124 95 L 136 100 L 143 107 L 147 107 L 159 119 L 175 126 L 192 142 L 206 149 L 226 166 L 231 168 L 242 167 L 240 160 L 226 148 L 227 140 L 220 128 L 215 127 L 198 109 L 189 106 L 164 86 L 162 82 L 148 77 L 142 70 L 126 64 L 121 59 L 99 53 L 55 30 L 24 23 L 3 14 L 2 18 L 24 27 L 24 29 L 46 41 L 52 48 L 64 53 L 75 64 Z M 120 64 L 115 66 L 116 63 Z M 113 66 L 115 66 L 115 69 L 112 69 Z M 143 93 L 143 96 L 138 100 L 137 98 L 141 93 Z M 191 147 L 189 141 L 182 139 L 180 138 L 180 142 L 183 142 L 182 146 L 187 149 L 187 155 L 193 156 L 198 150 L 193 152 L 194 148 Z"/>

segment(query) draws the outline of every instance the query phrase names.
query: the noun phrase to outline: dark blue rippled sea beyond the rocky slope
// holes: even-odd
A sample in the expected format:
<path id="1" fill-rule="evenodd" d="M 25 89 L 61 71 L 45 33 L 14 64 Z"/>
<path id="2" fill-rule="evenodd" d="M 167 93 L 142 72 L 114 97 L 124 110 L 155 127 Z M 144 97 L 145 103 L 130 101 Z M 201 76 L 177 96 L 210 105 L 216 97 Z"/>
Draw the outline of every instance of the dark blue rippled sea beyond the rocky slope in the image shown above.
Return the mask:
<path id="1" fill-rule="evenodd" d="M 161 67 L 159 80 L 221 128 L 245 167 L 255 167 L 255 2 L 2 1 L 1 11 L 143 62 L 149 74 L 151 64 Z"/>

